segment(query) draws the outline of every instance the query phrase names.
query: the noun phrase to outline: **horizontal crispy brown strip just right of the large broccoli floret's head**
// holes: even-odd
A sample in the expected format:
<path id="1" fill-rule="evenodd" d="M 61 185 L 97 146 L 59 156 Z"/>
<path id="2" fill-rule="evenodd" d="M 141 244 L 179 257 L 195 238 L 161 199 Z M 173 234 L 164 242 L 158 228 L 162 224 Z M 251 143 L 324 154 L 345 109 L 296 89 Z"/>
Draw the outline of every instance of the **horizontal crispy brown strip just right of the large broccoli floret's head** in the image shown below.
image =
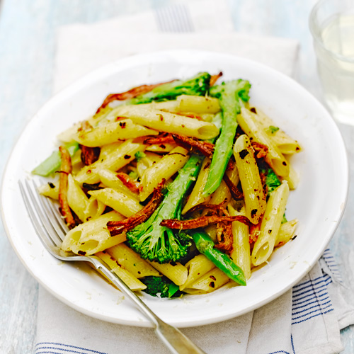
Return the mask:
<path id="1" fill-rule="evenodd" d="M 243 215 L 236 215 L 234 217 L 218 215 L 208 215 L 205 217 L 197 217 L 196 219 L 190 220 L 178 220 L 178 219 L 164 219 L 161 221 L 161 226 L 169 227 L 170 229 L 188 230 L 188 229 L 198 229 L 198 227 L 207 227 L 210 224 L 217 224 L 218 222 L 234 222 L 239 221 L 248 226 L 251 222 L 247 217 Z"/>

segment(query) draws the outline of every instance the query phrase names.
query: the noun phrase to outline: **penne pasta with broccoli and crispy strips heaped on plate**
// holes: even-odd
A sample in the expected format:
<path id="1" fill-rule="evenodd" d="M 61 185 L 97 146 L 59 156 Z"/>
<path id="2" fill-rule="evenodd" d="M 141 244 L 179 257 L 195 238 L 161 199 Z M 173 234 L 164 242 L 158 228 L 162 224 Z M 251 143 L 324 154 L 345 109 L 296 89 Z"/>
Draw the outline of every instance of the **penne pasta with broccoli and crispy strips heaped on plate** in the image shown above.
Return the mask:
<path id="1" fill-rule="evenodd" d="M 173 297 L 246 285 L 292 239 L 288 158 L 301 147 L 249 103 L 249 81 L 220 76 L 110 94 L 59 134 L 59 151 L 33 173 L 50 177 L 39 189 L 59 201 L 64 251 L 95 254 L 132 290 Z"/>

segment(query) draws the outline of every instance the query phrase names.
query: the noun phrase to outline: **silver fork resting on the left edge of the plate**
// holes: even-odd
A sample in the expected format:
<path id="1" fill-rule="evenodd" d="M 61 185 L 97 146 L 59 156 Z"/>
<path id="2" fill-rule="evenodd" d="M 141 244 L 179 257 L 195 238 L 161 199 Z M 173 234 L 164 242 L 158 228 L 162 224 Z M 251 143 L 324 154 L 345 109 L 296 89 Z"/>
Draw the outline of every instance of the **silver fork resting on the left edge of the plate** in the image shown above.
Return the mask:
<path id="1" fill-rule="evenodd" d="M 156 335 L 164 342 L 165 346 L 176 354 L 202 354 L 202 351 L 188 337 L 176 327 L 166 324 L 123 282 L 118 275 L 110 271 L 100 258 L 96 256 L 77 256 L 74 253 L 65 252 L 60 249 L 62 240 L 67 233 L 67 225 L 55 206 L 47 198 L 39 195 L 36 185 L 28 180 L 18 181 L 25 207 L 30 215 L 30 220 L 40 236 L 40 241 L 45 249 L 55 258 L 61 261 L 86 261 L 91 263 L 97 270 L 101 271 L 118 289 L 139 309 L 154 326 Z"/>

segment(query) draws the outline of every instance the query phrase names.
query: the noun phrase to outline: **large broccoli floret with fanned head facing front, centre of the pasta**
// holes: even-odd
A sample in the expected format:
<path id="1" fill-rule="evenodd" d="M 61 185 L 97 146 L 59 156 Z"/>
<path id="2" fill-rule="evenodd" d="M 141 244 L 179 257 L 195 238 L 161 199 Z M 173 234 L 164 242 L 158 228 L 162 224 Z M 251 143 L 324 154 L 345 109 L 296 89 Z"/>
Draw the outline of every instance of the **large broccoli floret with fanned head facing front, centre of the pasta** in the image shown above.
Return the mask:
<path id="1" fill-rule="evenodd" d="M 183 258 L 191 244 L 190 236 L 183 232 L 174 233 L 162 227 L 164 219 L 180 219 L 182 201 L 190 185 L 198 176 L 203 156 L 193 154 L 176 179 L 169 184 L 164 200 L 146 222 L 127 232 L 130 248 L 149 261 L 159 263 L 176 262 Z"/>

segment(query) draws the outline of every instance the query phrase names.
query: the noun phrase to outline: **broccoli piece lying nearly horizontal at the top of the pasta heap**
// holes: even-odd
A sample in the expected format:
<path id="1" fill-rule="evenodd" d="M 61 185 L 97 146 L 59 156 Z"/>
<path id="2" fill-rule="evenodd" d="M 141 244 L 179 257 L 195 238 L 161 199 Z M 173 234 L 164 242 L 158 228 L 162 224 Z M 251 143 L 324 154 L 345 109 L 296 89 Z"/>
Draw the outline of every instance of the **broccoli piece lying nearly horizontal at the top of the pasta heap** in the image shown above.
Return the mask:
<path id="1" fill-rule="evenodd" d="M 174 100 L 177 96 L 205 96 L 210 88 L 210 74 L 202 72 L 188 80 L 176 80 L 155 87 L 152 91 L 132 98 L 130 104 L 142 104 L 152 101 Z"/>

